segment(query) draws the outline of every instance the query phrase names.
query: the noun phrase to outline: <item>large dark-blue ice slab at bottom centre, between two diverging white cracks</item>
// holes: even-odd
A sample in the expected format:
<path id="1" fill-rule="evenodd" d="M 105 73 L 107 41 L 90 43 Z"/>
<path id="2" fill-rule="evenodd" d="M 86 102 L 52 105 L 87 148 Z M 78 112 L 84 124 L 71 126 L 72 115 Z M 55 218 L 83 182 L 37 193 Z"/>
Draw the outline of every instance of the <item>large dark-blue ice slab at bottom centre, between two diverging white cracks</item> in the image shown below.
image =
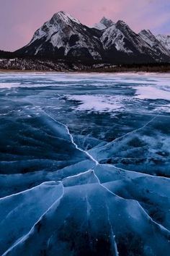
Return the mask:
<path id="1" fill-rule="evenodd" d="M 93 172 L 83 175 L 66 182 L 61 199 L 4 255 L 168 254 L 169 231 L 138 202 L 104 189 Z"/>

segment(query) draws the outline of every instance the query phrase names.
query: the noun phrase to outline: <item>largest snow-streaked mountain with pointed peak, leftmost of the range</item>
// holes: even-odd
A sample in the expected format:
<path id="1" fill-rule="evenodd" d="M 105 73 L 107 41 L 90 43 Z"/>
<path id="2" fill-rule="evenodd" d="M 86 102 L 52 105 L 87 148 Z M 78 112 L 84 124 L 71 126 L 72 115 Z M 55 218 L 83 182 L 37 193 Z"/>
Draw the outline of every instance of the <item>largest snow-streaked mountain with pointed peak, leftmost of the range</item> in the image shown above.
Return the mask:
<path id="1" fill-rule="evenodd" d="M 35 56 L 102 59 L 97 32 L 82 25 L 66 12 L 58 12 L 34 34 L 27 46 L 17 51 Z"/>

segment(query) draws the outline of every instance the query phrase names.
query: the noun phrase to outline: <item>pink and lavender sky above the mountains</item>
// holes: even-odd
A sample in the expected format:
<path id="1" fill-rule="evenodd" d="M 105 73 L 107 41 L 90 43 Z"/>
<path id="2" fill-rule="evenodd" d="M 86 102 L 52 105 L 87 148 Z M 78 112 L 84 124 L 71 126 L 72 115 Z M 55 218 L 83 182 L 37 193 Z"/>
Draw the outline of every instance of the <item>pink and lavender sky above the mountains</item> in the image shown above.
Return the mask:
<path id="1" fill-rule="evenodd" d="M 135 32 L 146 28 L 170 35 L 169 0 L 0 0 L 0 4 L 1 50 L 24 46 L 38 27 L 61 10 L 85 25 L 105 16 L 124 20 Z"/>

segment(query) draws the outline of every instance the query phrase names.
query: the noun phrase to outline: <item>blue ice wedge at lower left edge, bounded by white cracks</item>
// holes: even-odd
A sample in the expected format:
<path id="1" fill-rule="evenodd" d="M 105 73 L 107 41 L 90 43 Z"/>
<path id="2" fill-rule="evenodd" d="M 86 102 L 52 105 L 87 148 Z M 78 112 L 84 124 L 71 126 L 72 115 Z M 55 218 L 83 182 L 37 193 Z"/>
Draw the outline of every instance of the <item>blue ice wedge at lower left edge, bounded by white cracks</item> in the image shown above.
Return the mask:
<path id="1" fill-rule="evenodd" d="M 38 187 L 0 200 L 0 253 L 6 251 L 32 228 L 63 194 L 62 184 L 43 183 Z"/>

